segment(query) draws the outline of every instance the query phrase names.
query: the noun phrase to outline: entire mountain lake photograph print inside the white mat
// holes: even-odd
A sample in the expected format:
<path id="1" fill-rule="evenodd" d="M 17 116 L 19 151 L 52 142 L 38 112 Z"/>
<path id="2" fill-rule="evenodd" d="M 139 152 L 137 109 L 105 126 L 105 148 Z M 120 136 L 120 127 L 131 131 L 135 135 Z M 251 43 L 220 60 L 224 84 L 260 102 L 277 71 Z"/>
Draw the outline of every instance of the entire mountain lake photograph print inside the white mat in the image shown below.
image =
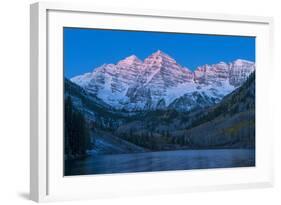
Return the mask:
<path id="1" fill-rule="evenodd" d="M 63 30 L 64 175 L 255 166 L 255 37 Z"/>

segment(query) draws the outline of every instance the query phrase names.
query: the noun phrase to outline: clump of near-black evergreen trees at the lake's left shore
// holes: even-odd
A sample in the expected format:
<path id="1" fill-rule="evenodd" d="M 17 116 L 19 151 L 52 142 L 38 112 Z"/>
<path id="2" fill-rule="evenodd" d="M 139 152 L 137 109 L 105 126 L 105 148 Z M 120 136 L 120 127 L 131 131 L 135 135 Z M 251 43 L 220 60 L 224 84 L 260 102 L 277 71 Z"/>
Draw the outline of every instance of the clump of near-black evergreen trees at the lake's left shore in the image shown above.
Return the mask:
<path id="1" fill-rule="evenodd" d="M 91 148 L 88 123 L 83 114 L 74 109 L 70 96 L 64 105 L 64 153 L 66 158 L 83 157 Z"/>

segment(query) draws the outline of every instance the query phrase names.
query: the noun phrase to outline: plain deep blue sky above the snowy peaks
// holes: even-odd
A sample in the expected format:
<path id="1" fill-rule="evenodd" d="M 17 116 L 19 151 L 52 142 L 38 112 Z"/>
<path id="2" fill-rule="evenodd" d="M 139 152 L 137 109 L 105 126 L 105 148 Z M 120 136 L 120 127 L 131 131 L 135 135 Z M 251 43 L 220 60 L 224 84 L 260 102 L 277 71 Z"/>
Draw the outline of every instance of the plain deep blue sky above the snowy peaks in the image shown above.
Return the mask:
<path id="1" fill-rule="evenodd" d="M 238 58 L 255 61 L 255 38 L 64 28 L 64 75 L 71 78 L 91 72 L 132 54 L 143 60 L 157 50 L 194 70 Z"/>

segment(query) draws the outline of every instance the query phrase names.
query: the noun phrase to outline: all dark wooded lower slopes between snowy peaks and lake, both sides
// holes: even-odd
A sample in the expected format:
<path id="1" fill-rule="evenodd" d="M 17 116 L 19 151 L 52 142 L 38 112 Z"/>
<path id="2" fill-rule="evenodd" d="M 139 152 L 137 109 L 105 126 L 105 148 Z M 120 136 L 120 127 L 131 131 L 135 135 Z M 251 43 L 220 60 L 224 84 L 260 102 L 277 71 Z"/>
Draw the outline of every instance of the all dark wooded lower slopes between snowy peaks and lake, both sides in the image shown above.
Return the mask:
<path id="1" fill-rule="evenodd" d="M 255 72 L 219 103 L 189 112 L 116 110 L 68 79 L 64 87 L 65 99 L 86 117 L 98 154 L 255 147 Z"/>

